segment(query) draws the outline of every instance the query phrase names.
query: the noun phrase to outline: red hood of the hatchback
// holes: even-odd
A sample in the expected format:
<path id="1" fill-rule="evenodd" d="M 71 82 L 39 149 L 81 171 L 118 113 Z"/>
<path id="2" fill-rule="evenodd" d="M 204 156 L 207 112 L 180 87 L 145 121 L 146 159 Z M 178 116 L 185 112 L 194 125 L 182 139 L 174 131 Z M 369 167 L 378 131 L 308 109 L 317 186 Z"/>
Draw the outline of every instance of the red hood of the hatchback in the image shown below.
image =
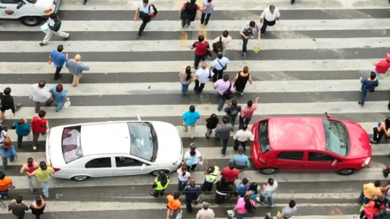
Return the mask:
<path id="1" fill-rule="evenodd" d="M 366 130 L 358 123 L 343 121 L 343 124 L 350 135 L 350 152 L 347 158 L 367 158 L 371 157 L 370 137 Z"/>

